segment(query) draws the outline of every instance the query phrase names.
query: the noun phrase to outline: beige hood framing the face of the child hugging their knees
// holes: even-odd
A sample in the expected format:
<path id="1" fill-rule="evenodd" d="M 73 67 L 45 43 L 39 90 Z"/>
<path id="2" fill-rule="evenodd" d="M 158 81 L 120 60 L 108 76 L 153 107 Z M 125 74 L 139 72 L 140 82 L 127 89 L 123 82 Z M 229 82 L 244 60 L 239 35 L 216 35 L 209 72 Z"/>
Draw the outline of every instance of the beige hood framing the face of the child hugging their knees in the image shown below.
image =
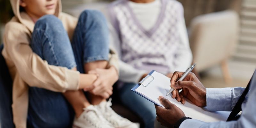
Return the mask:
<path id="1" fill-rule="evenodd" d="M 24 24 L 28 29 L 33 32 L 35 23 L 32 21 L 32 19 L 28 16 L 25 12 L 20 12 L 20 0 L 10 0 L 12 5 L 12 11 L 16 18 L 20 21 L 20 23 Z M 54 15 L 59 17 L 59 14 L 61 12 L 61 0 L 58 0 L 58 4 L 56 6 L 56 10 Z"/>

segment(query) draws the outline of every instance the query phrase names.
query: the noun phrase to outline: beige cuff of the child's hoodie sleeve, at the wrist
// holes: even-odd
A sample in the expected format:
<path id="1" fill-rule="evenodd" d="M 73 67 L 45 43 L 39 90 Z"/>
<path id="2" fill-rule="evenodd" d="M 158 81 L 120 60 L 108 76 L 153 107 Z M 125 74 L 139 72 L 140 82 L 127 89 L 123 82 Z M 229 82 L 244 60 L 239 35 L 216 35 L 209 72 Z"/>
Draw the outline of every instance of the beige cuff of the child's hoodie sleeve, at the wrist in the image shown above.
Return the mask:
<path id="1" fill-rule="evenodd" d="M 79 89 L 79 82 L 80 82 L 80 72 L 74 71 L 70 69 L 66 69 L 66 90 L 78 90 Z"/>

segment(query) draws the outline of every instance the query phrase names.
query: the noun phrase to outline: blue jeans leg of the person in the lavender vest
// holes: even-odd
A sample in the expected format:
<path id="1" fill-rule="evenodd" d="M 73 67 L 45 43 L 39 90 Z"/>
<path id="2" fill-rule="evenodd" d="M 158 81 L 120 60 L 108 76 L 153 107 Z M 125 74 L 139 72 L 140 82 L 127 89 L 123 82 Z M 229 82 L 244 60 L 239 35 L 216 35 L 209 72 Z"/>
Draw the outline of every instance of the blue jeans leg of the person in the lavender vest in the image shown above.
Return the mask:
<path id="1" fill-rule="evenodd" d="M 142 118 L 146 128 L 153 128 L 156 119 L 156 108 L 154 103 L 146 100 L 131 89 L 134 83 L 125 83 L 118 91 L 122 103 Z"/>

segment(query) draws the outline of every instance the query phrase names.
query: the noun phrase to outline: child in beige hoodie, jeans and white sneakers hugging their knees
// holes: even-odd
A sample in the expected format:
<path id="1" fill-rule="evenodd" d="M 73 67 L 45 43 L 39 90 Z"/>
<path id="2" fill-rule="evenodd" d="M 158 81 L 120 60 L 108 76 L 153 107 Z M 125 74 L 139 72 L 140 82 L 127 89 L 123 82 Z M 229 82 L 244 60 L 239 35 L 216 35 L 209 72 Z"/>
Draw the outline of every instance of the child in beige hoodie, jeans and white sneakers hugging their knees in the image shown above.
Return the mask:
<path id="1" fill-rule="evenodd" d="M 84 11 L 77 20 L 61 12 L 60 0 L 11 4 L 15 16 L 6 24 L 2 54 L 13 79 L 16 127 L 135 126 L 106 101 L 118 67 L 101 13 Z"/>

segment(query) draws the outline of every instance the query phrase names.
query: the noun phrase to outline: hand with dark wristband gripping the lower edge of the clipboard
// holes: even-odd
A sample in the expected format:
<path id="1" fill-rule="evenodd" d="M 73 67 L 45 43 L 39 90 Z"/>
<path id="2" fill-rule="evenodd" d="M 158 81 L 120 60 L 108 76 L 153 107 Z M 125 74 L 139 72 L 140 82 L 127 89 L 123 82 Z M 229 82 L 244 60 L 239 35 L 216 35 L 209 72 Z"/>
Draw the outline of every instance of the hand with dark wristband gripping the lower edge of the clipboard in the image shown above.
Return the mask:
<path id="1" fill-rule="evenodd" d="M 159 96 L 159 101 L 164 105 L 156 107 L 156 120 L 166 127 L 173 127 L 181 118 L 186 117 L 184 112 L 176 105 L 172 104 L 169 100 L 163 96 Z"/>

